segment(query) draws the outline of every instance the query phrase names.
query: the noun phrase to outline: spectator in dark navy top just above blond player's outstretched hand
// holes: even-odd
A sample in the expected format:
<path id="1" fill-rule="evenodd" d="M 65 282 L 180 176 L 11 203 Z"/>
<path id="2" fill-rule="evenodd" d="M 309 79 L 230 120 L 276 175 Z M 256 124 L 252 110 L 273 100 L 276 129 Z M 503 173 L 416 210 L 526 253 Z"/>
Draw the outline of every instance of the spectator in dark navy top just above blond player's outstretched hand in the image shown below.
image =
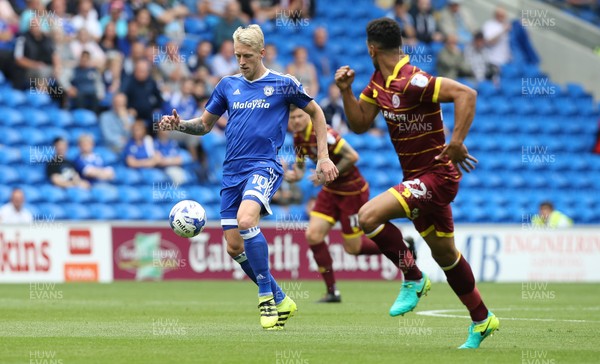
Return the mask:
<path id="1" fill-rule="evenodd" d="M 128 107 L 133 108 L 139 119 L 148 126 L 153 112 L 160 109 L 163 99 L 156 81 L 150 77 L 150 62 L 138 60 L 132 77 L 123 81 L 122 92 L 127 95 Z"/>

